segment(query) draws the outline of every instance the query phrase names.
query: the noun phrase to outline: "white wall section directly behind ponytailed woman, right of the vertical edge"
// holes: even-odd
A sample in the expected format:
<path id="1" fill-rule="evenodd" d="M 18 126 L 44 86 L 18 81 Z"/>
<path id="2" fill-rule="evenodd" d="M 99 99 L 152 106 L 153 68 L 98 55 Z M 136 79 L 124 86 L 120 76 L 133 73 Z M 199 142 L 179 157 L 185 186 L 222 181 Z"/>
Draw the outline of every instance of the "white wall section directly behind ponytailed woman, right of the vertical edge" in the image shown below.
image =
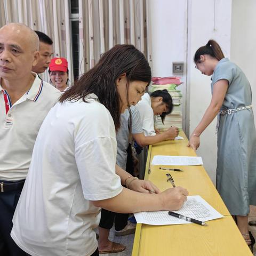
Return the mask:
<path id="1" fill-rule="evenodd" d="M 215 4 L 214 4 L 215 3 Z M 195 68 L 194 54 L 209 39 L 215 39 L 226 57 L 230 55 L 231 0 L 189 1 L 188 7 L 188 87 L 189 130 L 193 132 L 211 101 L 211 79 Z M 200 137 L 197 155 L 202 156 L 204 167 L 215 183 L 217 166 L 216 119 Z M 188 135 L 188 134 L 187 134 Z"/>

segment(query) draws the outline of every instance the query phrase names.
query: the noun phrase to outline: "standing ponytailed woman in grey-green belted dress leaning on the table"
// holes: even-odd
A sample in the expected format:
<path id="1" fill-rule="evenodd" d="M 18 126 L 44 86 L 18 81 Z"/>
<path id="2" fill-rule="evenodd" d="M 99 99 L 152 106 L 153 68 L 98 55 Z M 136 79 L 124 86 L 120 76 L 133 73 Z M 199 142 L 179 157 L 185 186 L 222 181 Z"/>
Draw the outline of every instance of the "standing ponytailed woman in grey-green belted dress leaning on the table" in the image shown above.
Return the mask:
<path id="1" fill-rule="evenodd" d="M 251 86 L 214 40 L 196 51 L 194 61 L 203 75 L 212 76 L 212 99 L 189 146 L 199 147 L 200 135 L 218 115 L 217 189 L 252 247 L 255 240 L 248 230 L 248 214 L 249 205 L 256 205 L 256 131 Z"/>

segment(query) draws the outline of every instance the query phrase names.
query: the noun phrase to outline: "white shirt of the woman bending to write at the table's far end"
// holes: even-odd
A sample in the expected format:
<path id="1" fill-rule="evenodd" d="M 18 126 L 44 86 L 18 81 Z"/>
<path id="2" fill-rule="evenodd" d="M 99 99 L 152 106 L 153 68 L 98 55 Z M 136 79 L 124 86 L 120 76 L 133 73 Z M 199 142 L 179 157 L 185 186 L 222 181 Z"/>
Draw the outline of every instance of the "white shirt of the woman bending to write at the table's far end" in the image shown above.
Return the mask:
<path id="1" fill-rule="evenodd" d="M 154 128 L 154 111 L 153 108 L 151 108 L 151 99 L 147 92 L 141 97 L 136 107 L 140 113 L 142 129 L 145 136 L 156 135 Z"/>

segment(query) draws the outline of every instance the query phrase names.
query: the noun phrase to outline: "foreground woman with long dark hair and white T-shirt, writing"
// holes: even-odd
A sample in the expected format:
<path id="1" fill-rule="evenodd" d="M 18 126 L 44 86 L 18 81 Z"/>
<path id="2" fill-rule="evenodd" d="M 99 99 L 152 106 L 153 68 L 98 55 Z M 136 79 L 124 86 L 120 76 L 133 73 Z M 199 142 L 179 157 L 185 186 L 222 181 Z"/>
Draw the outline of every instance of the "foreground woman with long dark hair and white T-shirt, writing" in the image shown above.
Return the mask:
<path id="1" fill-rule="evenodd" d="M 93 228 L 100 207 L 120 213 L 177 210 L 186 201 L 186 189 L 158 193 L 115 165 L 120 115 L 140 100 L 150 79 L 144 55 L 132 45 L 116 45 L 50 110 L 13 219 L 12 238 L 25 252 L 98 255 Z"/>

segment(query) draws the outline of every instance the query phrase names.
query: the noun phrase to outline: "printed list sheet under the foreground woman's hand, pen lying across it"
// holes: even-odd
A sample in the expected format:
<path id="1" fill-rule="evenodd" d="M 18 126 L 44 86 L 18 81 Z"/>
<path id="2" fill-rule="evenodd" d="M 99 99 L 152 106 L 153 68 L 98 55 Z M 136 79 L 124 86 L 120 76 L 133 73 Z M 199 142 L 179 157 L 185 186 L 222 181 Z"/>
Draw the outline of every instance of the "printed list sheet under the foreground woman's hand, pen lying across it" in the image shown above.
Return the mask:
<path id="1" fill-rule="evenodd" d="M 223 215 L 217 212 L 201 196 L 188 196 L 188 200 L 183 204 L 181 209 L 174 212 L 200 221 L 214 220 L 223 217 Z M 148 225 L 175 225 L 192 223 L 173 217 L 168 214 L 168 211 L 138 212 L 134 213 L 134 217 L 138 223 Z"/>

